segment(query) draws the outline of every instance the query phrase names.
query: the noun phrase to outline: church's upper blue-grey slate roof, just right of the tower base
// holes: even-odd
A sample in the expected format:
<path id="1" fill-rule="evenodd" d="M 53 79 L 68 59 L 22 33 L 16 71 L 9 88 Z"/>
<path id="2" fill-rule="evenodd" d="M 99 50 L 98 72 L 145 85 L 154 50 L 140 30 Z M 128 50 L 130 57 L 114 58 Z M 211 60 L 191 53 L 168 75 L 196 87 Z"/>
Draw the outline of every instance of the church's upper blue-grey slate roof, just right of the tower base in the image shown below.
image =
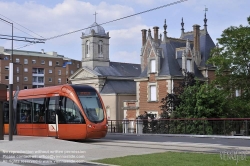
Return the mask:
<path id="1" fill-rule="evenodd" d="M 94 71 L 102 76 L 138 77 L 141 74 L 140 64 L 110 62 L 110 66 L 97 66 Z"/>

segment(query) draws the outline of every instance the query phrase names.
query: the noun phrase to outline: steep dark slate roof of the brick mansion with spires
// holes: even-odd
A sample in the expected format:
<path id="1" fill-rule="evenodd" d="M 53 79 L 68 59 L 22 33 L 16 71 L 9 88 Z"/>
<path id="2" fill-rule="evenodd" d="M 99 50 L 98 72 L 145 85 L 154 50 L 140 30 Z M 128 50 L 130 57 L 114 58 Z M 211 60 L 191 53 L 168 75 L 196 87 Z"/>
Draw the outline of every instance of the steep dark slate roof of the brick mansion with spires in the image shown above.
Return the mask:
<path id="1" fill-rule="evenodd" d="M 160 73 L 159 76 L 183 76 L 182 68 L 182 51 L 177 52 L 176 59 L 176 48 L 186 47 L 186 42 L 183 41 L 188 39 L 193 41 L 193 32 L 184 33 L 181 39 L 167 38 L 166 42 L 161 43 L 160 48 L 163 50 L 164 58 L 161 59 Z M 190 43 L 190 47 L 193 48 L 193 43 Z M 206 61 L 210 56 L 210 50 L 215 47 L 213 40 L 210 35 L 205 33 L 204 30 L 200 31 L 200 52 L 201 52 L 201 64 L 205 66 Z M 201 71 L 198 69 L 196 63 L 194 63 L 194 74 L 198 78 L 203 78 Z M 147 77 L 147 67 L 141 73 L 139 77 Z"/>

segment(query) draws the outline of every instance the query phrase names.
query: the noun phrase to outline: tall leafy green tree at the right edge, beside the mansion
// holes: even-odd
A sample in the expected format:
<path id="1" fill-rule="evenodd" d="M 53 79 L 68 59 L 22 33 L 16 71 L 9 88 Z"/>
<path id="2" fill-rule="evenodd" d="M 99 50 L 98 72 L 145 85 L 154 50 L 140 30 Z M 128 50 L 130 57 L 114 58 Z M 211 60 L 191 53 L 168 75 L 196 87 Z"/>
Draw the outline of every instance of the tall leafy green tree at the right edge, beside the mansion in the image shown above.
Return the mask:
<path id="1" fill-rule="evenodd" d="M 250 17 L 248 17 L 250 25 Z M 236 117 L 249 116 L 250 110 L 250 26 L 231 26 L 225 29 L 218 45 L 212 50 L 209 64 L 217 67 L 215 83 L 228 94 L 229 111 Z M 241 91 L 235 97 L 235 91 Z"/>

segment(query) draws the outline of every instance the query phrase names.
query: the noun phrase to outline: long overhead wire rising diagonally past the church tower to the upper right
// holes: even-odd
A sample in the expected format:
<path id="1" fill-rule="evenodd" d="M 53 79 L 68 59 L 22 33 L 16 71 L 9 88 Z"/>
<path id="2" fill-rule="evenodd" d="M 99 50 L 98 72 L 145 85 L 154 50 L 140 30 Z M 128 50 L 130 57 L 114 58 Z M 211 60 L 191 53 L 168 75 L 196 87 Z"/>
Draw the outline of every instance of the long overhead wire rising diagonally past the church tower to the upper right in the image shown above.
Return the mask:
<path id="1" fill-rule="evenodd" d="M 98 25 L 105 25 L 105 24 L 112 23 L 112 22 L 115 22 L 115 21 L 123 20 L 123 19 L 130 18 L 130 17 L 134 17 L 134 16 L 137 16 L 137 15 L 140 15 L 140 14 L 143 14 L 143 13 L 151 12 L 151 11 L 158 10 L 158 9 L 161 9 L 161 8 L 165 8 L 165 7 L 169 7 L 169 6 L 172 6 L 172 5 L 176 5 L 178 3 L 183 3 L 185 1 L 188 1 L 188 0 L 178 0 L 178 1 L 166 4 L 166 5 L 162 5 L 162 6 L 152 8 L 152 9 L 149 9 L 149 10 L 145 10 L 145 11 L 142 11 L 142 12 L 139 12 L 139 13 L 135 13 L 135 14 L 131 14 L 131 15 L 128 15 L 128 16 L 125 16 L 125 17 L 121 17 L 121 18 L 118 18 L 118 19 L 107 21 L 107 22 L 104 22 L 104 23 L 101 23 L 101 24 L 98 24 Z M 67 33 L 57 35 L 57 36 L 53 36 L 53 37 L 50 37 L 50 38 L 45 38 L 45 40 L 48 41 L 48 40 L 56 39 L 56 38 L 63 37 L 63 36 L 66 36 L 66 35 L 70 35 L 70 34 L 73 34 L 73 33 L 79 32 L 79 31 L 83 31 L 83 30 L 86 30 L 86 29 L 89 29 L 89 28 L 93 28 L 95 26 L 97 26 L 97 25 L 89 26 L 87 28 L 83 28 L 83 29 L 79 29 L 79 30 L 75 30 L 75 31 L 71 31 L 71 32 L 67 32 Z M 27 47 L 27 46 L 30 46 L 30 45 L 33 45 L 33 44 L 36 44 L 36 43 L 25 45 L 25 46 L 19 47 L 17 49 L 24 48 L 24 47 Z"/>

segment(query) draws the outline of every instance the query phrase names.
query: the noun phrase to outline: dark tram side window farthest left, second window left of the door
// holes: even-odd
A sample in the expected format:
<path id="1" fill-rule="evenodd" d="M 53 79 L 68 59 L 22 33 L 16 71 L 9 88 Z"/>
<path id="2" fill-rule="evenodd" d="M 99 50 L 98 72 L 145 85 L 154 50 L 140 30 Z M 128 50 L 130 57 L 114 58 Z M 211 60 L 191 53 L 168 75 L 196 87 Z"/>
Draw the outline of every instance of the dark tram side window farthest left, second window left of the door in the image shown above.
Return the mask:
<path id="1" fill-rule="evenodd" d="M 17 104 L 18 104 L 17 122 L 31 123 L 31 110 L 32 110 L 31 100 L 18 100 Z"/>

